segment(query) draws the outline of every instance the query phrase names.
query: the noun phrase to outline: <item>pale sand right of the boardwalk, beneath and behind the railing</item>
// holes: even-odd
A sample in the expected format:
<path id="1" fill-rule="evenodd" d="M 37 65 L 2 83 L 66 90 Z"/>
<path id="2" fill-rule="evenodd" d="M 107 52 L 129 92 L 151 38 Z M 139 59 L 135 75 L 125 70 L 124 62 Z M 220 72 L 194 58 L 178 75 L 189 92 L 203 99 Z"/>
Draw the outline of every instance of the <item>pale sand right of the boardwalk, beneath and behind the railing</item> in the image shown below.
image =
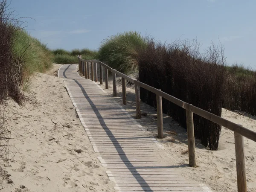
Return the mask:
<path id="1" fill-rule="evenodd" d="M 105 89 L 105 82 L 100 85 L 105 91 L 113 96 L 112 78 L 109 78 L 110 87 Z M 122 105 L 122 86 L 121 79 L 117 78 L 117 97 L 116 101 Z M 133 86 L 126 89 L 127 105 L 122 105 L 134 118 L 136 116 L 135 90 Z M 142 119 L 136 119 L 145 129 L 148 135 L 157 136 L 157 113 L 156 110 L 141 103 L 141 113 L 146 113 Z M 256 131 L 256 117 L 247 117 L 240 113 L 222 110 L 222 117 L 232 122 L 242 124 L 244 127 Z M 169 165 L 180 166 L 183 169 L 184 177 L 205 183 L 214 192 L 235 192 L 237 191 L 236 183 L 236 157 L 234 134 L 227 128 L 222 128 L 219 140 L 219 150 L 209 151 L 196 140 L 196 163 L 197 168 L 188 166 L 187 154 L 187 135 L 186 130 L 181 128 L 178 123 L 171 117 L 163 114 L 164 139 L 157 139 L 166 151 L 170 154 L 170 159 L 163 160 Z M 247 175 L 247 191 L 256 191 L 256 143 L 244 139 L 246 175 Z"/>

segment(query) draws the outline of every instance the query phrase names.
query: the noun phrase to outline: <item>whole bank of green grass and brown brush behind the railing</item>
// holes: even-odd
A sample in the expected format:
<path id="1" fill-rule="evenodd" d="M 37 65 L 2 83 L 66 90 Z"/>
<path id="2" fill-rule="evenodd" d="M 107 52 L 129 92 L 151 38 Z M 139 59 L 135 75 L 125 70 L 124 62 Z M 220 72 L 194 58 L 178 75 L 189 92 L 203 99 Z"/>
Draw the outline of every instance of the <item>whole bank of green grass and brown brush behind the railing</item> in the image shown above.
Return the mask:
<path id="1" fill-rule="evenodd" d="M 256 72 L 224 65 L 222 47 L 213 45 L 201 54 L 196 46 L 179 41 L 159 44 L 138 32 L 124 32 L 103 41 L 99 60 L 122 73 L 139 72 L 139 81 L 218 116 L 222 107 L 256 115 Z M 140 98 L 156 107 L 151 92 L 141 89 Z M 183 109 L 167 101 L 163 106 L 164 113 L 186 128 Z M 194 116 L 194 124 L 202 144 L 217 150 L 221 126 L 199 116 Z"/>

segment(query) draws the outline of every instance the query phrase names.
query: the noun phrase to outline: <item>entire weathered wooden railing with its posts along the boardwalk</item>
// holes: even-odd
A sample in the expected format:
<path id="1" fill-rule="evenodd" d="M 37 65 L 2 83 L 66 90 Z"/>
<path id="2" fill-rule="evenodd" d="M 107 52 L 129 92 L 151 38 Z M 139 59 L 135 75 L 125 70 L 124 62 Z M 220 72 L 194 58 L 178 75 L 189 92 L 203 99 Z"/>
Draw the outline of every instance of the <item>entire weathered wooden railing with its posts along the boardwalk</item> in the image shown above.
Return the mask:
<path id="1" fill-rule="evenodd" d="M 132 79 L 119 71 L 116 71 L 97 60 L 84 60 L 79 55 L 79 72 L 85 76 L 86 79 L 90 79 L 90 67 L 91 67 L 91 80 L 98 81 L 97 64 L 100 67 L 100 84 L 103 84 L 103 67 L 105 68 L 105 87 L 108 89 L 108 71 L 113 75 L 113 96 L 116 96 L 116 75 L 122 77 L 122 99 L 123 105 L 126 105 L 126 86 L 125 80 L 130 81 L 135 85 L 136 95 L 136 118 L 140 119 L 140 87 L 155 93 L 157 96 L 157 132 L 158 138 L 163 138 L 163 112 L 162 112 L 162 97 L 168 101 L 175 103 L 176 105 L 186 110 L 186 123 L 187 123 L 187 135 L 188 135 L 188 148 L 189 148 L 189 166 L 195 167 L 195 137 L 194 137 L 194 122 L 193 113 L 204 117 L 212 122 L 217 123 L 225 128 L 234 131 L 235 137 L 235 151 L 236 151 L 236 172 L 237 172 L 237 186 L 238 192 L 247 192 L 246 173 L 245 173 L 245 160 L 244 160 L 244 141 L 243 136 L 256 142 L 256 132 L 251 131 L 248 128 L 244 128 L 241 125 L 233 123 L 227 119 L 224 119 L 215 114 L 209 113 L 201 108 L 195 107 L 189 103 L 183 102 L 180 99 L 175 98 L 161 90 L 144 84 L 140 81 Z M 94 78 L 95 74 L 95 78 Z"/>

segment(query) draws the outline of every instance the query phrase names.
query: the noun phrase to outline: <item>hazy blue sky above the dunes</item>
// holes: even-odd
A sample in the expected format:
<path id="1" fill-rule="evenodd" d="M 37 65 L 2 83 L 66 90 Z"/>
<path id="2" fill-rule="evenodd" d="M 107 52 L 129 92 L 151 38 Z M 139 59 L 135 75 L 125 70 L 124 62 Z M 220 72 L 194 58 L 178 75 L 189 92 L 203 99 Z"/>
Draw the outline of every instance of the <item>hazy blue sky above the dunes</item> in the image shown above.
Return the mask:
<path id="1" fill-rule="evenodd" d="M 228 63 L 256 69 L 255 0 L 12 0 L 32 36 L 49 48 L 98 49 L 105 38 L 136 30 L 159 41 L 218 38 Z"/>

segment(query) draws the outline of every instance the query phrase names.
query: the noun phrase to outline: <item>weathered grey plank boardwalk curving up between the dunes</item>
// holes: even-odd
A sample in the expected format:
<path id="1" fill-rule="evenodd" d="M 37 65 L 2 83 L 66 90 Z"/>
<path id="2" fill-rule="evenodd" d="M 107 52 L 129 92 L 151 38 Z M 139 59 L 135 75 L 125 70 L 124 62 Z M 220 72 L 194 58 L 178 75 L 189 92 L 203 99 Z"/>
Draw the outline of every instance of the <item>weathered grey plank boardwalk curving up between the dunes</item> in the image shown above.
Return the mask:
<path id="1" fill-rule="evenodd" d="M 153 137 L 145 136 L 143 127 L 114 98 L 95 82 L 80 77 L 77 67 L 63 65 L 58 76 L 64 78 L 81 123 L 116 192 L 211 192 L 207 186 L 181 177 L 179 166 L 160 163 L 160 158 L 168 158 L 164 148 Z"/>

